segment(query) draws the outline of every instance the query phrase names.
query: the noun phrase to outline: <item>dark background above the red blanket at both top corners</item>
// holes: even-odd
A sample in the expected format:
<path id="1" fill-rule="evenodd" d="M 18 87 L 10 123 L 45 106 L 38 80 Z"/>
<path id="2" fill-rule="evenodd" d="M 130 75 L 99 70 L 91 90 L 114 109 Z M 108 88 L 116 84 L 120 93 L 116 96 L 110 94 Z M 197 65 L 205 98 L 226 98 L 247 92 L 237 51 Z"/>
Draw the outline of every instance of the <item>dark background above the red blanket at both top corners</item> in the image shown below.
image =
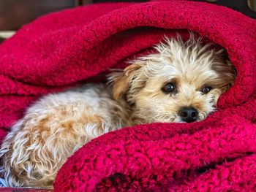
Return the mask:
<path id="1" fill-rule="evenodd" d="M 25 23 L 29 23 L 40 15 L 61 9 L 82 6 L 85 4 L 106 2 L 109 0 L 0 0 L 0 32 L 15 31 Z M 112 0 L 120 1 L 120 0 Z M 123 0 L 121 0 L 123 1 Z M 129 0 L 124 0 L 129 1 Z M 197 0 L 203 1 L 203 0 Z M 208 0 L 256 18 L 256 0 Z M 250 1 L 252 9 L 249 9 Z M 138 1 L 137 1 L 138 2 Z M 1 42 L 1 39 L 0 39 Z"/>

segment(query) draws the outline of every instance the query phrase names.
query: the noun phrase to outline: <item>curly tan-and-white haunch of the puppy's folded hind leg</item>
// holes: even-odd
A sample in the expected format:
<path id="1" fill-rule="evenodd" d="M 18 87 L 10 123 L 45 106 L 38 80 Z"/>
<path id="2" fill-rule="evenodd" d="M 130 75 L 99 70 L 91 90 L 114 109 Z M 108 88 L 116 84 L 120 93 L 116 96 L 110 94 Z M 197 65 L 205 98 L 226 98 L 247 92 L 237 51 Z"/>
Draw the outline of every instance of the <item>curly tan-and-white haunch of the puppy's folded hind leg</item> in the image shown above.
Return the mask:
<path id="1" fill-rule="evenodd" d="M 1 146 L 1 173 L 7 184 L 50 188 L 69 155 L 104 133 L 103 122 L 83 101 L 48 110 L 32 107 Z"/>

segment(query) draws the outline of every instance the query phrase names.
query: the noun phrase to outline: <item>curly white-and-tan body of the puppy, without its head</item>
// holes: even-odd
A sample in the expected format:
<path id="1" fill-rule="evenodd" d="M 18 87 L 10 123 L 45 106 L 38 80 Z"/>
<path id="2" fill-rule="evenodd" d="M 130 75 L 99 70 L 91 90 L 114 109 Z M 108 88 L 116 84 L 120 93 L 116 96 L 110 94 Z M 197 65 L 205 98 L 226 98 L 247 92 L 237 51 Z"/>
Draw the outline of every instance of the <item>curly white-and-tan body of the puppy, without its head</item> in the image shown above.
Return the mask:
<path id="1" fill-rule="evenodd" d="M 104 84 L 42 97 L 5 137 L 1 177 L 11 187 L 52 188 L 67 158 L 91 139 L 121 128 L 124 116 L 127 111 Z"/>

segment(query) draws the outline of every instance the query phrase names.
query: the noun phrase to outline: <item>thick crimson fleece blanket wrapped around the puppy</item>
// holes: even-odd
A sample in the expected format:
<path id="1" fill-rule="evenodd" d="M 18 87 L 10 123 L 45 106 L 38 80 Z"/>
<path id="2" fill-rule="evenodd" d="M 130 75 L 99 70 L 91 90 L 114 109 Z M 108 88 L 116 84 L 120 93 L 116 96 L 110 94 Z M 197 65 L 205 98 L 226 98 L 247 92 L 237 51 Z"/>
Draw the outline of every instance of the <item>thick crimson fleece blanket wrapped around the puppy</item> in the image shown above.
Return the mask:
<path id="1" fill-rule="evenodd" d="M 92 4 L 23 26 L 0 46 L 0 137 L 39 96 L 104 81 L 176 32 L 225 47 L 236 82 L 197 123 L 121 128 L 62 166 L 55 191 L 256 191 L 256 21 L 195 1 Z"/>

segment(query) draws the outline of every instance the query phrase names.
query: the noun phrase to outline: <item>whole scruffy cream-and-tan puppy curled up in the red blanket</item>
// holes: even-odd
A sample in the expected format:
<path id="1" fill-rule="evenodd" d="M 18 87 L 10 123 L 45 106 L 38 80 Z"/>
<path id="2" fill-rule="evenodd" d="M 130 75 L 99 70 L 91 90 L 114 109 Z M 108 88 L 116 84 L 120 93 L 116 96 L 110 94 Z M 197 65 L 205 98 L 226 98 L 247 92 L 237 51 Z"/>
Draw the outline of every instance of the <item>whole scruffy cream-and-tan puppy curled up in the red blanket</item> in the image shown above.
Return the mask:
<path id="1" fill-rule="evenodd" d="M 51 188 L 61 165 L 95 137 L 124 126 L 204 120 L 236 77 L 223 50 L 191 34 L 165 39 L 156 53 L 110 74 L 112 85 L 88 84 L 50 94 L 29 107 L 1 145 L 9 186 Z"/>

